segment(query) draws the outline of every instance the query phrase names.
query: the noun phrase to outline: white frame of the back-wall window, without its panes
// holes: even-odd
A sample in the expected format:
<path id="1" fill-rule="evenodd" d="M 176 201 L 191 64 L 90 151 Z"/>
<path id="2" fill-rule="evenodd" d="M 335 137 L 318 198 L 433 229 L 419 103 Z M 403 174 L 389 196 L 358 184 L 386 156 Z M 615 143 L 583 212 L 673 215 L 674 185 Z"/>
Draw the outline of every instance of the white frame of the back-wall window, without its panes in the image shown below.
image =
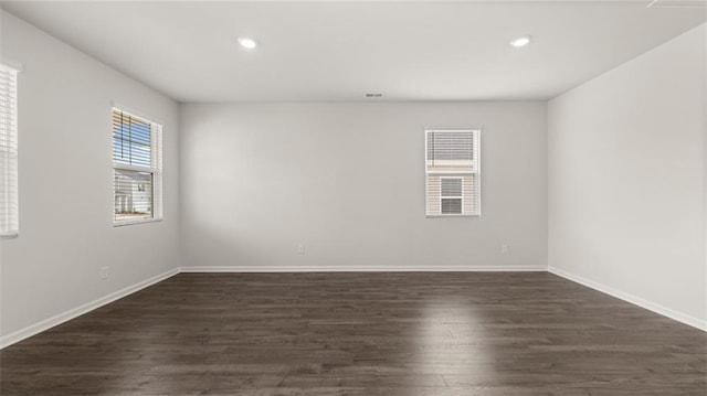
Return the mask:
<path id="1" fill-rule="evenodd" d="M 471 132 L 472 139 L 475 145 L 474 154 L 476 156 L 473 161 L 473 169 L 468 171 L 430 171 L 428 167 L 428 143 L 429 143 L 429 135 L 430 132 Z M 442 218 L 442 217 L 481 217 L 482 216 L 482 127 L 474 126 L 469 128 L 463 129 L 425 129 L 424 130 L 424 213 L 426 218 Z M 431 174 L 437 174 L 440 180 L 440 195 L 439 195 L 439 207 L 440 213 L 430 214 L 429 207 L 430 202 L 428 201 L 430 197 L 428 188 L 429 188 L 429 178 Z M 466 203 L 466 199 L 464 196 L 464 176 L 472 175 L 475 185 L 473 186 L 473 191 L 475 194 L 471 196 L 476 211 L 474 213 L 464 213 L 464 204 Z M 442 213 L 442 179 L 451 178 L 451 179 L 462 179 L 462 213 Z M 454 199 L 452 196 L 445 196 L 446 199 Z"/>

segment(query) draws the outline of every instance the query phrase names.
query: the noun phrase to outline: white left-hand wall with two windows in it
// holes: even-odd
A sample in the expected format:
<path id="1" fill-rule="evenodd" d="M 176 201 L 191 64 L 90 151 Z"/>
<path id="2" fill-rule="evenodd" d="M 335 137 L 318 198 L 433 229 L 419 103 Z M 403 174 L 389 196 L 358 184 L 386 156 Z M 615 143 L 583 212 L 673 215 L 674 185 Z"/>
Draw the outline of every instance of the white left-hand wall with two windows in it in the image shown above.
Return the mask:
<path id="1" fill-rule="evenodd" d="M 24 66 L 20 237 L 0 242 L 7 339 L 179 266 L 178 106 L 4 11 L 0 22 L 3 57 Z M 113 227 L 113 100 L 165 125 L 163 222 Z"/>

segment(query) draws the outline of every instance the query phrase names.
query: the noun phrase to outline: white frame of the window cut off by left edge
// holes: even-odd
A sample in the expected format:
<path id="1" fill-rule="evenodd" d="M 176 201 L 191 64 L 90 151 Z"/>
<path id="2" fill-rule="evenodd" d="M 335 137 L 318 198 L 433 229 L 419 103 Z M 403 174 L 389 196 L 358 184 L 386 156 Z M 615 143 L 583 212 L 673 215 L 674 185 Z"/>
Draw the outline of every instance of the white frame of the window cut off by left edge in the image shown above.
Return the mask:
<path id="1" fill-rule="evenodd" d="M 8 178 L 13 179 L 13 182 L 8 182 L 11 185 L 9 194 L 11 195 L 6 204 L 7 213 L 10 214 L 10 218 L 8 220 L 8 228 L 0 228 L 0 239 L 13 239 L 20 236 L 20 149 L 19 149 L 19 118 L 20 118 L 20 108 L 19 108 L 19 97 L 20 97 L 20 73 L 22 73 L 22 65 L 19 63 L 13 63 L 12 61 L 7 62 L 8 60 L 3 60 L 0 63 L 0 67 L 7 69 L 9 73 L 13 74 L 13 85 L 11 89 L 14 89 L 14 96 L 11 97 L 13 101 L 10 104 L 14 107 L 14 111 L 10 111 L 11 124 L 10 128 L 8 128 L 8 140 L 14 145 L 14 148 L 8 148 L 6 154 L 8 156 L 8 162 L 10 162 L 11 169 L 4 170 L 1 172 L 6 174 Z M 4 151 L 4 150 L 3 150 Z M 6 210 L 6 207 L 0 207 L 0 210 Z"/>

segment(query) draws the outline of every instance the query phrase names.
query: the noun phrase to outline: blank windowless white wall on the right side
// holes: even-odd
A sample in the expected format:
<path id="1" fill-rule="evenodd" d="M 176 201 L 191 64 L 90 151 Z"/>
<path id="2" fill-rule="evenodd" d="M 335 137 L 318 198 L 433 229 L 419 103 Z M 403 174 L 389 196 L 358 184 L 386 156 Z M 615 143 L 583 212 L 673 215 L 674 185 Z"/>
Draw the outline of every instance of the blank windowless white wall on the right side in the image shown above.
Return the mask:
<path id="1" fill-rule="evenodd" d="M 548 105 L 549 265 L 705 327 L 703 24 Z"/>

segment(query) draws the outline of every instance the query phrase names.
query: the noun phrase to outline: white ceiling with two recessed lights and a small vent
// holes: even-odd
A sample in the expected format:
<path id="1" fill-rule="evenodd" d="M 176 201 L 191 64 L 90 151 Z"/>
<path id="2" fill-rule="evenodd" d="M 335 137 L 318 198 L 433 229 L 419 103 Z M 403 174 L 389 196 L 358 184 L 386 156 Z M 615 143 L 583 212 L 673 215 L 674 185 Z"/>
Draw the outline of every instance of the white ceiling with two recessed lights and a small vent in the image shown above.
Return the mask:
<path id="1" fill-rule="evenodd" d="M 704 7 L 651 2 L 1 7 L 179 101 L 495 100 L 551 98 L 707 20 Z M 508 44 L 524 34 L 532 44 Z M 238 36 L 260 45 L 244 50 Z"/>

